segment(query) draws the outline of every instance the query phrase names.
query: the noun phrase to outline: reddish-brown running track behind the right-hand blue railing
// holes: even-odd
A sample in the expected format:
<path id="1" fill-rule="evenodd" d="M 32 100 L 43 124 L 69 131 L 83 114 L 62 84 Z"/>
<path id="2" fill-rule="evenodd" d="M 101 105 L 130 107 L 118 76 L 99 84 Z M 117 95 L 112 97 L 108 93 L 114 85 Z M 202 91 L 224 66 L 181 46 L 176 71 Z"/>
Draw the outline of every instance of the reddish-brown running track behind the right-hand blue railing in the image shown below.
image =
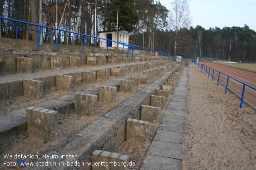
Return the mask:
<path id="1" fill-rule="evenodd" d="M 213 68 L 214 70 L 217 70 L 219 72 L 225 73 L 233 78 L 236 78 L 242 82 L 245 82 L 246 84 L 249 84 L 256 88 L 256 72 L 250 72 L 246 70 L 241 70 L 238 68 L 233 68 L 229 66 L 223 66 L 214 62 L 201 62 L 201 64 Z M 200 65 L 201 65 L 200 64 Z M 207 76 L 208 76 L 209 68 L 207 68 Z M 213 74 L 213 70 L 210 70 L 210 74 Z M 218 79 L 219 73 L 214 72 L 214 78 Z M 227 84 L 227 76 L 221 74 L 220 81 L 223 84 Z M 243 90 L 243 84 L 229 78 L 229 84 L 228 88 L 231 89 L 233 92 L 238 94 L 238 96 L 242 96 L 242 90 Z M 256 90 L 246 86 L 245 93 L 244 93 L 244 100 L 248 102 L 250 105 L 252 105 L 254 108 L 256 108 Z"/>

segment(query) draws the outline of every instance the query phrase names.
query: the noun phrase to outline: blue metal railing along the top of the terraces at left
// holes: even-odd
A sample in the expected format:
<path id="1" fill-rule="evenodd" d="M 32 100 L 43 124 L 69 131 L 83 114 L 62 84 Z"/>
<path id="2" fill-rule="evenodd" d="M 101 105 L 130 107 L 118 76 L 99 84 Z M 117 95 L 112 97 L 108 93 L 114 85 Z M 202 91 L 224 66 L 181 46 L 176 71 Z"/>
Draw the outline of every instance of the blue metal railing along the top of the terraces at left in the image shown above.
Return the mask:
<path id="1" fill-rule="evenodd" d="M 73 45 L 73 40 L 74 38 L 80 38 L 79 36 L 83 36 L 83 38 L 80 38 L 80 39 L 83 39 L 83 52 L 84 52 L 84 45 L 85 45 L 85 42 L 86 40 L 88 40 L 88 46 L 89 46 L 89 41 L 94 41 L 94 38 L 96 39 L 96 42 L 94 42 L 94 50 L 96 49 L 96 43 L 97 42 L 104 42 L 104 43 L 109 43 L 109 41 L 111 42 L 115 42 L 117 44 L 121 44 L 123 46 L 127 46 L 128 48 L 128 52 L 127 52 L 127 56 L 129 56 L 129 48 L 132 49 L 132 54 L 131 54 L 131 57 L 133 58 L 133 52 L 134 52 L 134 47 L 133 46 L 130 46 L 129 44 L 125 44 L 125 43 L 122 43 L 122 42 L 116 42 L 114 40 L 107 40 L 107 39 L 104 39 L 104 38 L 99 38 L 99 37 L 95 37 L 95 36 L 90 36 L 90 35 L 86 35 L 86 34 L 81 34 L 81 33 L 77 33 L 77 32 L 72 32 L 72 31 L 66 31 L 66 30 L 61 30 L 61 29 L 57 29 L 57 28 L 52 28 L 52 27 L 48 27 L 48 26 L 43 26 L 43 25 L 39 25 L 39 24 L 33 24 L 33 23 L 30 23 L 30 22 L 24 22 L 24 21 L 20 21 L 20 20 L 14 20 L 14 19 L 10 19 L 10 18 L 5 18 L 5 17 L 2 17 L 0 16 L 0 19 L 3 19 L 3 20 L 9 20 L 9 21 L 14 21 L 14 22 L 19 22 L 19 23 L 23 23 L 23 24 L 29 24 L 29 25 L 34 25 L 34 26 L 38 26 L 39 27 L 39 30 L 33 30 L 33 29 L 27 29 L 27 28 L 21 28 L 21 27 L 15 27 L 15 26 L 9 26 L 9 25 L 4 25 L 4 24 L 0 24 L 1 26 L 8 26 L 8 27 L 11 27 L 11 28 L 16 28 L 16 39 L 17 39 L 17 36 L 18 36 L 18 29 L 23 29 L 23 30 L 30 30 L 30 31 L 35 31 L 35 32 L 39 32 L 39 36 L 38 36 L 38 43 L 37 43 L 37 49 L 39 50 L 40 48 L 40 40 L 41 40 L 41 32 L 43 33 L 48 33 L 48 34 L 54 34 L 56 35 L 56 33 L 51 33 L 51 32 L 44 32 L 42 30 L 42 28 L 48 28 L 48 29 L 52 29 L 52 30 L 55 30 L 56 32 L 57 31 L 60 31 L 60 32 L 67 32 L 67 33 L 72 33 L 72 34 L 76 34 L 77 36 L 69 36 L 69 37 L 72 37 L 72 45 Z M 57 34 L 57 36 L 67 36 L 67 35 L 63 35 L 63 34 Z M 56 39 L 55 39 L 55 43 L 56 43 L 56 49 L 58 48 L 58 38 L 56 36 Z M 90 39 L 89 39 L 90 38 Z M 104 40 L 104 41 L 99 41 L 99 40 Z M 108 52 L 109 50 L 109 46 L 107 46 L 107 49 L 106 51 Z"/>

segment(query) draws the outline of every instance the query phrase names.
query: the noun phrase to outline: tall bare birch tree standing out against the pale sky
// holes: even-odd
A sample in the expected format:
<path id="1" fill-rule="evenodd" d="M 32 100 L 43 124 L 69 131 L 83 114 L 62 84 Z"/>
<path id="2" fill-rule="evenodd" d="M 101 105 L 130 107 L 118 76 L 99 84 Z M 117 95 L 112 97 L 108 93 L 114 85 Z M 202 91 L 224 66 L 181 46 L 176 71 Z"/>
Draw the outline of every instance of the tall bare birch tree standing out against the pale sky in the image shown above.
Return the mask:
<path id="1" fill-rule="evenodd" d="M 186 37 L 182 36 L 191 24 L 188 0 L 173 0 L 170 3 L 169 27 L 174 42 L 174 56 L 177 46 L 184 43 Z"/>

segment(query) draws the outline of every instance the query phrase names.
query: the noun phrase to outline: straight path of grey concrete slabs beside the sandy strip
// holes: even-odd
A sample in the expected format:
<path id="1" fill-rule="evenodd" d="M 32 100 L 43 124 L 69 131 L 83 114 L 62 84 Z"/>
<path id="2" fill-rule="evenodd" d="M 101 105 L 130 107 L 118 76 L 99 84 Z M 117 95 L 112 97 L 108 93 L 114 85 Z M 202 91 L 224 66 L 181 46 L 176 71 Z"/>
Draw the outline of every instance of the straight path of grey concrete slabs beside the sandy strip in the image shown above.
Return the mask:
<path id="1" fill-rule="evenodd" d="M 140 170 L 182 170 L 187 74 L 184 68 Z"/>

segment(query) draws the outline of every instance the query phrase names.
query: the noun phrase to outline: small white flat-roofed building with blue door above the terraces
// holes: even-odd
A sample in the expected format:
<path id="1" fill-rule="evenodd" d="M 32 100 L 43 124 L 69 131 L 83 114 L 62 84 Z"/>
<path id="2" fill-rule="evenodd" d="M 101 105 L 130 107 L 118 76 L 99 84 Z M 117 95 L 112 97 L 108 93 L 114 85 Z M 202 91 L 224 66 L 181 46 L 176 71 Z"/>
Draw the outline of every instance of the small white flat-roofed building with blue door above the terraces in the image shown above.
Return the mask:
<path id="1" fill-rule="evenodd" d="M 99 34 L 99 38 L 104 38 L 106 40 L 113 40 L 115 42 L 112 42 L 112 41 L 109 41 L 107 43 L 106 40 L 102 40 L 102 39 L 99 39 L 100 42 L 99 42 L 99 46 L 101 48 L 106 48 L 107 46 L 109 48 L 116 48 L 117 47 L 117 31 L 112 31 L 112 32 L 109 32 L 109 31 L 100 31 L 98 32 Z M 124 30 L 119 30 L 119 42 L 122 42 L 124 44 L 129 44 L 129 35 L 131 34 L 137 34 L 136 32 L 127 32 L 127 31 L 124 31 Z M 119 44 L 119 48 L 123 49 L 124 48 L 127 48 L 127 46 L 123 46 L 121 44 Z"/>

